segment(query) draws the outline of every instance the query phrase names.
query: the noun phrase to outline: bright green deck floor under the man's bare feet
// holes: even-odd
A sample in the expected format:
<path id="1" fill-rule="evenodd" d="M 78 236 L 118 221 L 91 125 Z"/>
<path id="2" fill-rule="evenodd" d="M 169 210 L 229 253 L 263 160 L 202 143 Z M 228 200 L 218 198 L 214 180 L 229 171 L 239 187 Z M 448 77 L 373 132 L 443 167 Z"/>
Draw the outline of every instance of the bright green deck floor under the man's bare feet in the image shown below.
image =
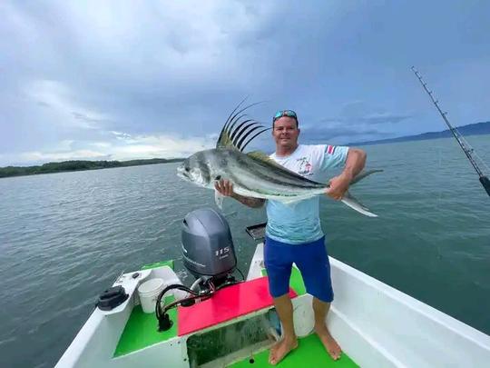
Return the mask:
<path id="1" fill-rule="evenodd" d="M 253 361 L 251 360 L 253 359 Z M 233 363 L 228 368 L 260 368 L 270 367 L 269 350 L 250 356 L 241 362 Z M 334 361 L 326 352 L 323 344 L 319 341 L 316 334 L 310 334 L 307 337 L 299 339 L 299 346 L 289 353 L 284 360 L 279 362 L 276 367 L 279 368 L 354 368 L 358 364 L 354 363 L 346 353 L 338 361 Z"/>

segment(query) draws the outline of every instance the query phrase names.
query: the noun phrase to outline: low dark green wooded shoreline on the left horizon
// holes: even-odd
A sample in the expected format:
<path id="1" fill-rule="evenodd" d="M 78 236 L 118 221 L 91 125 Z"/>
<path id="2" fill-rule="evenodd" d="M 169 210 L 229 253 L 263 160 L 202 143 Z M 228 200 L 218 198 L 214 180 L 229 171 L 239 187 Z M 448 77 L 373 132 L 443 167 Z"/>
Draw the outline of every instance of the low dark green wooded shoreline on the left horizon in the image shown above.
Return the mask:
<path id="1" fill-rule="evenodd" d="M 183 158 L 151 158 L 148 160 L 130 161 L 63 161 L 61 163 L 47 163 L 35 166 L 6 166 L 0 167 L 0 178 L 7 176 L 21 176 L 34 174 L 63 173 L 67 171 L 83 171 L 107 169 L 111 167 L 136 166 L 140 164 L 166 164 L 183 161 Z"/>

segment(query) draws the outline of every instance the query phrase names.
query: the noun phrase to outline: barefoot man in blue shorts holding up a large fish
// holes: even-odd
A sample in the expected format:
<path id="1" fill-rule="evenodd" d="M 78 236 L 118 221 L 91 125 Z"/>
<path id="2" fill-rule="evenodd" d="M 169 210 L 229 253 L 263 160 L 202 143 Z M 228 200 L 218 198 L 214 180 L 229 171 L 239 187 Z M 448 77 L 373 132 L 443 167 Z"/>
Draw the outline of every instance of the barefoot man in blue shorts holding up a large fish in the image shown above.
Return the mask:
<path id="1" fill-rule="evenodd" d="M 352 178 L 364 168 L 366 154 L 357 148 L 298 144 L 299 132 L 298 116 L 294 111 L 282 110 L 275 114 L 272 136 L 276 152 L 270 158 L 295 173 L 323 183 L 329 168 L 343 164 L 344 170 L 329 180 L 330 187 L 326 190 L 328 196 L 340 200 Z M 227 180 L 221 179 L 215 187 L 220 194 L 231 196 L 250 207 L 258 208 L 265 203 L 264 199 L 233 193 L 233 186 Z M 279 363 L 298 346 L 288 293 L 292 263 L 299 267 L 307 292 L 313 295 L 315 332 L 330 356 L 337 360 L 342 351 L 325 324 L 333 291 L 325 235 L 319 221 L 319 196 L 296 204 L 270 200 L 267 217 L 264 261 L 270 293 L 283 328 L 282 339 L 270 349 L 269 362 Z"/>

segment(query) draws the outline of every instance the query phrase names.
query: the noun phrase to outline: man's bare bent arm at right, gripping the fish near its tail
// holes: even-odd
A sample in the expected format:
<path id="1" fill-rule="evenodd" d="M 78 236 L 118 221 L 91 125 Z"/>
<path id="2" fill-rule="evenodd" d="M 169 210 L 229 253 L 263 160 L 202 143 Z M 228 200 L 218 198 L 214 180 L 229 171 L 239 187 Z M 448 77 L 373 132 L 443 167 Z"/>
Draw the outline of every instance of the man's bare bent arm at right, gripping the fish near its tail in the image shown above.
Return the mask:
<path id="1" fill-rule="evenodd" d="M 361 172 L 366 164 L 366 152 L 359 148 L 349 148 L 346 165 L 344 170 L 338 176 L 332 178 L 329 182 L 330 188 L 327 191 L 328 196 L 335 200 L 340 200 L 348 190 L 348 184 Z"/>

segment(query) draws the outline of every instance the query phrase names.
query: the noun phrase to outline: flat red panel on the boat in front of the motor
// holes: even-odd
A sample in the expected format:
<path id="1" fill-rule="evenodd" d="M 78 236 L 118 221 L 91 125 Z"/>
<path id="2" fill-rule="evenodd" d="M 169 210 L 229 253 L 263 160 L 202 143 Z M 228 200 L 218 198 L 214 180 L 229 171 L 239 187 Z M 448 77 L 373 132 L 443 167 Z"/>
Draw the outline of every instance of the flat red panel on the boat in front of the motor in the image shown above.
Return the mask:
<path id="1" fill-rule="evenodd" d="M 289 288 L 289 296 L 297 294 Z M 267 277 L 237 283 L 216 292 L 210 299 L 190 307 L 178 307 L 177 334 L 201 330 L 272 305 Z"/>

